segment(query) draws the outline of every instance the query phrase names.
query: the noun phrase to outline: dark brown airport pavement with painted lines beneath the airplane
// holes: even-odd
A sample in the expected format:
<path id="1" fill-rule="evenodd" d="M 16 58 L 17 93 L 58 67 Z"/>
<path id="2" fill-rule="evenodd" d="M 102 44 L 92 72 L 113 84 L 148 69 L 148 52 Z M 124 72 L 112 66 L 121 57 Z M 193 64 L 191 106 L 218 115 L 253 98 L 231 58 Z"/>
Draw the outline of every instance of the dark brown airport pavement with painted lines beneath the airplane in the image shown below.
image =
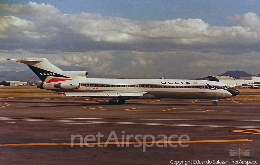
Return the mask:
<path id="1" fill-rule="evenodd" d="M 259 163 L 259 110 L 258 101 L 1 96 L 0 164 Z"/>

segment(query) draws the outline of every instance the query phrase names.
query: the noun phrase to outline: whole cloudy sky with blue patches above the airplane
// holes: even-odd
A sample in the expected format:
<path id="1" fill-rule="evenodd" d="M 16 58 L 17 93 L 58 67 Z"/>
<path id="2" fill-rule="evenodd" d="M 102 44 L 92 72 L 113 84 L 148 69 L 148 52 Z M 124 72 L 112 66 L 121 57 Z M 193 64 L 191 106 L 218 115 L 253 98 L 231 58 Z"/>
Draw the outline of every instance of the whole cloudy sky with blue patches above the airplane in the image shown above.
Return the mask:
<path id="1" fill-rule="evenodd" d="M 260 1 L 0 1 L 5 58 L 44 57 L 97 78 L 193 79 L 260 74 Z"/>

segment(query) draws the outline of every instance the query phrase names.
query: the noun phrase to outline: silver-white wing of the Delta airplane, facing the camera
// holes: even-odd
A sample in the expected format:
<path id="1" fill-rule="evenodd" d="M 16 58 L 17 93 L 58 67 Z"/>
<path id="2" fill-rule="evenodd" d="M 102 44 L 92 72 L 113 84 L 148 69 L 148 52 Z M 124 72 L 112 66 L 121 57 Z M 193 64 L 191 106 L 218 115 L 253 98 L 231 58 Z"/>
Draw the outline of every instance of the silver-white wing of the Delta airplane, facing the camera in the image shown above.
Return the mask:
<path id="1" fill-rule="evenodd" d="M 105 91 L 105 92 L 64 92 L 60 94 L 66 94 L 66 96 L 83 96 L 83 97 L 130 97 L 130 96 L 143 96 L 146 95 L 147 92 Z"/>

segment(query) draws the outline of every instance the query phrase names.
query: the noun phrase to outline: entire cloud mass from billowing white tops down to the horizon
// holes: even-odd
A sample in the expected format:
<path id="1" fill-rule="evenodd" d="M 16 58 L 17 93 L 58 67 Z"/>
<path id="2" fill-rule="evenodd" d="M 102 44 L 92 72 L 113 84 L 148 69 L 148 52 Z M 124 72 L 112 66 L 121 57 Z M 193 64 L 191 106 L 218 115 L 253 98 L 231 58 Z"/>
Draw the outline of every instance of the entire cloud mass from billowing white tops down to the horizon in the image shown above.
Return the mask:
<path id="1" fill-rule="evenodd" d="M 243 68 L 257 75 L 260 70 L 259 60 L 238 59 L 259 55 L 260 17 L 255 13 L 228 16 L 236 25 L 228 27 L 201 19 L 135 21 L 61 14 L 54 6 L 35 2 L 0 4 L 0 10 L 5 14 L 0 16 L 0 70 L 27 70 L 3 58 L 31 57 L 110 78 L 198 78 Z"/>

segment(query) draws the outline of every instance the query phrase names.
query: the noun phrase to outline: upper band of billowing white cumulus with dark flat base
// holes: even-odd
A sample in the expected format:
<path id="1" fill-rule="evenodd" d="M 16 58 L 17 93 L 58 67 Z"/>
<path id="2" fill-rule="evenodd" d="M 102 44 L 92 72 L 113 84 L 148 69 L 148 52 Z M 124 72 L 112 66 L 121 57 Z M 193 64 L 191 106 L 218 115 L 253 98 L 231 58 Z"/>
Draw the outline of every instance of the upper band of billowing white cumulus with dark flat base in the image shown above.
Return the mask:
<path id="1" fill-rule="evenodd" d="M 229 16 L 227 20 L 237 26 L 227 27 L 210 26 L 201 19 L 134 21 L 90 13 L 61 14 L 54 6 L 36 2 L 0 4 L 0 10 L 11 15 L 0 17 L 0 49 L 66 52 L 195 49 L 223 54 L 260 51 L 260 18 L 255 13 Z"/>

